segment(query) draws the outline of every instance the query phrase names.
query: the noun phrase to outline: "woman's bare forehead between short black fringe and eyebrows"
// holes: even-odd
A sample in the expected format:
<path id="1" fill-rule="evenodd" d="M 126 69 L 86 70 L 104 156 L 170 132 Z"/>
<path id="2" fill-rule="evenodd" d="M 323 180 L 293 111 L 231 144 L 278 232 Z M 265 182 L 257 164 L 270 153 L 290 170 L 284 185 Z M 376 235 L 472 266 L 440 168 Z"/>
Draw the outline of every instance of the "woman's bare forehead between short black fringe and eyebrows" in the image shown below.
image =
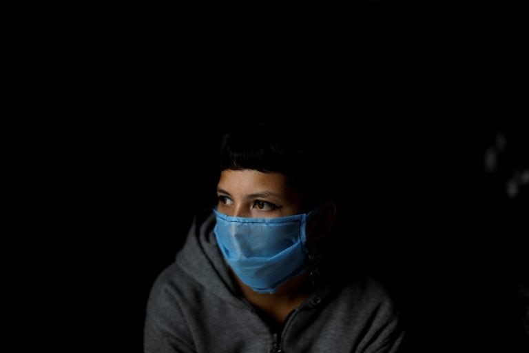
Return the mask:
<path id="1" fill-rule="evenodd" d="M 218 188 L 229 193 L 253 194 L 273 192 L 282 196 L 291 196 L 294 192 L 287 185 L 287 179 L 281 173 L 264 173 L 258 170 L 223 170 L 220 173 Z"/>

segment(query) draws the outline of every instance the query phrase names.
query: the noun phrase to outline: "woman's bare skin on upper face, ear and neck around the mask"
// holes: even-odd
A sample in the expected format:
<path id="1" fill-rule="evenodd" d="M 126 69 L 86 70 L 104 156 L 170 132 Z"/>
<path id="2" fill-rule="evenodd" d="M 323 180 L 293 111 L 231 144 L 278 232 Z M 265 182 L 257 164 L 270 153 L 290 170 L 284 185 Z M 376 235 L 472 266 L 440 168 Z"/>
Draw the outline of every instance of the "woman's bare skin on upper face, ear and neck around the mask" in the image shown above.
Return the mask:
<path id="1" fill-rule="evenodd" d="M 302 197 L 287 185 L 283 174 L 257 170 L 224 170 L 217 185 L 220 213 L 228 216 L 273 218 L 303 213 Z M 326 203 L 307 225 L 307 247 L 316 246 L 329 232 L 336 208 Z M 260 294 L 236 279 L 247 301 L 273 323 L 282 325 L 288 314 L 309 296 L 307 272 L 284 283 L 277 292 Z"/>

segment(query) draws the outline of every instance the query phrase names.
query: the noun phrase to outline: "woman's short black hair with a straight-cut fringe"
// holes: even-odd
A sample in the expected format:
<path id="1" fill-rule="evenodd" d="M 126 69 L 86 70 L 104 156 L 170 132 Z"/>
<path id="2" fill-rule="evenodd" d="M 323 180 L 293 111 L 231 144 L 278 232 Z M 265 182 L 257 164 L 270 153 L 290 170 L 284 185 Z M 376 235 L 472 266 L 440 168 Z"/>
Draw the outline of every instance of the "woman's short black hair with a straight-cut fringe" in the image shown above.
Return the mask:
<path id="1" fill-rule="evenodd" d="M 220 143 L 219 168 L 279 172 L 302 196 L 305 208 L 324 201 L 324 165 L 318 152 L 309 148 L 307 135 L 288 126 L 269 123 L 239 125 Z"/>

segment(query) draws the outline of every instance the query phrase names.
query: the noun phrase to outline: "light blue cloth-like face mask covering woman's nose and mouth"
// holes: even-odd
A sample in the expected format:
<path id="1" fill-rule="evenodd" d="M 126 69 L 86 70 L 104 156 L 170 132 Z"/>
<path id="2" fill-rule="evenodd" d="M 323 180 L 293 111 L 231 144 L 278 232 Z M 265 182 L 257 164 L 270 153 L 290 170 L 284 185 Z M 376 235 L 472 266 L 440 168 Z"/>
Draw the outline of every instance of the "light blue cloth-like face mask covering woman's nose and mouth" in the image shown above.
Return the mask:
<path id="1" fill-rule="evenodd" d="M 306 269 L 309 214 L 277 218 L 232 217 L 214 210 L 218 246 L 239 279 L 258 293 L 273 293 Z"/>

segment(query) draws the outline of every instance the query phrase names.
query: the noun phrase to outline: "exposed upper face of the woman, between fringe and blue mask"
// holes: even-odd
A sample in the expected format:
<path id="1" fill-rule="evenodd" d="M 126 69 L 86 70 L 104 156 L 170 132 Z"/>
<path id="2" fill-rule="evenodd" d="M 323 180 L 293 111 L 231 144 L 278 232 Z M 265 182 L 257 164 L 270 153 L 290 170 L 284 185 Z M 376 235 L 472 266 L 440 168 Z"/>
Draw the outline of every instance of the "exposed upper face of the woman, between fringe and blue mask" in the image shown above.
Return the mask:
<path id="1" fill-rule="evenodd" d="M 273 218 L 302 213 L 300 195 L 280 173 L 223 170 L 217 195 L 218 212 L 228 216 Z"/>

